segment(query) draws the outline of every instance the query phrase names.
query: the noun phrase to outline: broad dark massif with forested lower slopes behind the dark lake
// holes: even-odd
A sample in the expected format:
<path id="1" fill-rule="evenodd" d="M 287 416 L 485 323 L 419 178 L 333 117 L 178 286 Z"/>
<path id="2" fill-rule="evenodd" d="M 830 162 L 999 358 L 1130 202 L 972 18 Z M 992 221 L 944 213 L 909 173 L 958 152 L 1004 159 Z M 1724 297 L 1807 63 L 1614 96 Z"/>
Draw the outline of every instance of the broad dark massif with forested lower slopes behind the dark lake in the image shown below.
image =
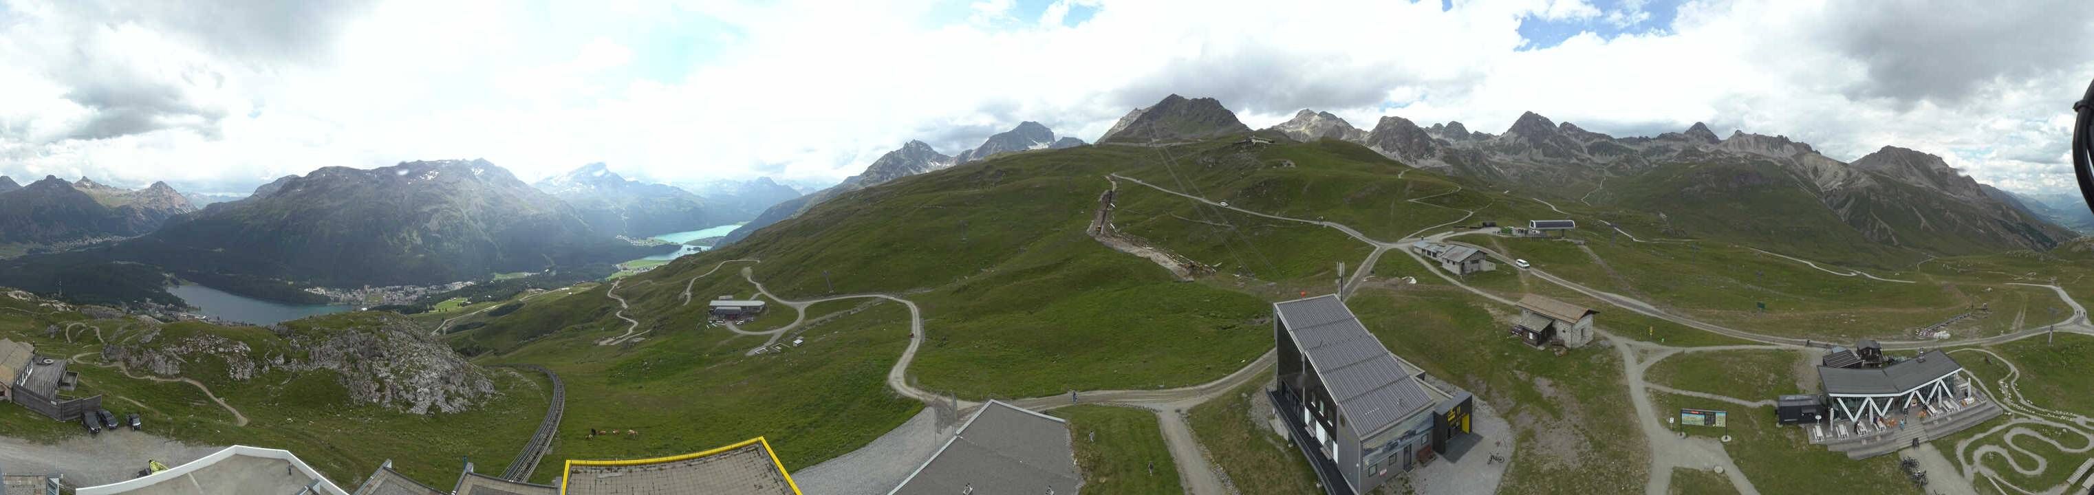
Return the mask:
<path id="1" fill-rule="evenodd" d="M 36 186 L 57 188 L 57 184 Z M 586 269 L 662 251 L 591 228 L 567 203 L 488 161 L 322 167 L 115 244 L 6 259 L 0 284 L 80 299 L 170 299 L 155 267 L 249 297 Z M 117 269 L 121 267 L 121 269 Z M 124 278 L 94 276 L 119 272 Z M 289 284 L 287 284 L 289 282 Z"/>

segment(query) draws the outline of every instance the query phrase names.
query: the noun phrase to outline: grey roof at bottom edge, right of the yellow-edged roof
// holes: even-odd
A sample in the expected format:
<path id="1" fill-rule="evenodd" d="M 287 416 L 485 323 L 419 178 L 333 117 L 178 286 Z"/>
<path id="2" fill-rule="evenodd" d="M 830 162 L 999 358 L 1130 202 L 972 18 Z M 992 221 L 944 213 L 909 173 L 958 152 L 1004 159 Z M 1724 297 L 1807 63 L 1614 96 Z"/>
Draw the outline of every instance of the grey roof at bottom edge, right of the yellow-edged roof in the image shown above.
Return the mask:
<path id="1" fill-rule="evenodd" d="M 1076 476 L 1068 422 L 988 401 L 888 495 L 951 495 L 967 487 L 974 493 L 1076 493 L 1083 476 Z"/>

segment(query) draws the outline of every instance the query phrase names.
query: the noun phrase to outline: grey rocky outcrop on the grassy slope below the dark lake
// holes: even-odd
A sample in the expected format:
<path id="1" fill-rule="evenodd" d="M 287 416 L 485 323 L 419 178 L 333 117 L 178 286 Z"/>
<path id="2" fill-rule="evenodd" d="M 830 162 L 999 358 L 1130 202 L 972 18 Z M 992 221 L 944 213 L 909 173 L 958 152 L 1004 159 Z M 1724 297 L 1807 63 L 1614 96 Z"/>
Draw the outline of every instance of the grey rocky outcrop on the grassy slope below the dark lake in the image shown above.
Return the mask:
<path id="1" fill-rule="evenodd" d="M 322 372 L 335 376 L 346 401 L 406 414 L 465 411 L 496 395 L 484 370 L 423 338 L 413 322 L 398 315 L 302 320 L 270 328 L 274 336 L 239 334 L 245 340 L 214 330 L 195 324 L 153 328 L 105 345 L 103 359 L 132 372 L 203 382 Z M 224 376 L 197 376 L 203 370 L 224 370 Z"/>

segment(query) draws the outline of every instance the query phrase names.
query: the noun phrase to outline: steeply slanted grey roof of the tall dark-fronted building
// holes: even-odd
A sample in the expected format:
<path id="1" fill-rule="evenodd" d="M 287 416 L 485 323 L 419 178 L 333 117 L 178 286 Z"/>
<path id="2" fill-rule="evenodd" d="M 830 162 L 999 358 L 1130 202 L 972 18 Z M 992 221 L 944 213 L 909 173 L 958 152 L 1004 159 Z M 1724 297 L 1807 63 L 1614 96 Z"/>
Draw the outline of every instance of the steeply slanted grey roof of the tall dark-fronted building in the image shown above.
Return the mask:
<path id="1" fill-rule="evenodd" d="M 1361 439 L 1432 407 L 1432 397 L 1418 384 L 1418 368 L 1388 353 L 1336 294 L 1273 303 L 1273 313 L 1294 334 L 1338 401 L 1338 414 Z"/>

